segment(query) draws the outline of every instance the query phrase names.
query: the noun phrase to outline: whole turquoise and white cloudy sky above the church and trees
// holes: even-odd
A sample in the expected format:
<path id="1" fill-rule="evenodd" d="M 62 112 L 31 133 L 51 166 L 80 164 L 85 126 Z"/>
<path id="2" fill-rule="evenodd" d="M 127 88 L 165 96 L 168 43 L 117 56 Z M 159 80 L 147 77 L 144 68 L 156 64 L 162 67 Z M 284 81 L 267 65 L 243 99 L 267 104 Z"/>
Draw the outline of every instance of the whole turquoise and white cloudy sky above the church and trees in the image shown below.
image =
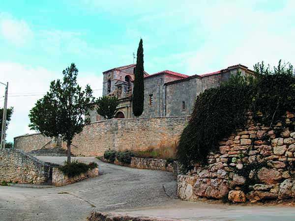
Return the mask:
<path id="1" fill-rule="evenodd" d="M 294 64 L 294 0 L 1 0 L 0 82 L 14 113 L 7 141 L 34 133 L 29 110 L 74 62 L 102 94 L 102 72 L 132 64 L 194 75 L 264 60 Z M 4 86 L 0 86 L 3 106 Z"/>

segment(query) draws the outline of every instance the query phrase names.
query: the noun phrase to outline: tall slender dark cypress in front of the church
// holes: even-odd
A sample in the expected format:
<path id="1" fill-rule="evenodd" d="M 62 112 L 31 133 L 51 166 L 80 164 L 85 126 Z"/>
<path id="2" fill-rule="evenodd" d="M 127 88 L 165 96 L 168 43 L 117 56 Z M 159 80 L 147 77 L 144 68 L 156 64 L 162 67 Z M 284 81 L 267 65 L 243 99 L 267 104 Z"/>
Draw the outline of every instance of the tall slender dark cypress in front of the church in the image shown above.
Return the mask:
<path id="1" fill-rule="evenodd" d="M 143 39 L 140 39 L 139 46 L 137 49 L 135 79 L 132 98 L 132 111 L 134 116 L 136 117 L 140 116 L 144 111 L 144 91 L 144 48 Z"/>

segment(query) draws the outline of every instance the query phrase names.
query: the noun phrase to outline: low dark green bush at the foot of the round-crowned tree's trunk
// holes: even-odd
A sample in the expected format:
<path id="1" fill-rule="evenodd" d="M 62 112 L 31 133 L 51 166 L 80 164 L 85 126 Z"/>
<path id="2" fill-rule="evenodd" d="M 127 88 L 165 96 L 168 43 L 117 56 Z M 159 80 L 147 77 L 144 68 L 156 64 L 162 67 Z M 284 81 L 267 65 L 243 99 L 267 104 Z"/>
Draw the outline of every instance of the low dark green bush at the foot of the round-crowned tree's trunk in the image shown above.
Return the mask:
<path id="1" fill-rule="evenodd" d="M 97 167 L 97 164 L 94 162 L 87 165 L 79 161 L 73 161 L 71 163 L 65 162 L 63 166 L 59 166 L 59 169 L 69 177 L 74 177 L 81 173 L 86 173 L 89 169 L 94 169 L 95 167 Z"/>

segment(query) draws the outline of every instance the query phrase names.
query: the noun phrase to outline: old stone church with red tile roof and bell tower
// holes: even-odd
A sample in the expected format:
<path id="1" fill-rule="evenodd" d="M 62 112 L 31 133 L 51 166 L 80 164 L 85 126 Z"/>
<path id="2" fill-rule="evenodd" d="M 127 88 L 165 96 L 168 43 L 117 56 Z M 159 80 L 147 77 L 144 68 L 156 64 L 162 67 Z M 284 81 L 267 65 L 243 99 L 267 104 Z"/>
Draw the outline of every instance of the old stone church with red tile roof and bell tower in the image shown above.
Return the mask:
<path id="1" fill-rule="evenodd" d="M 132 89 L 136 64 L 112 68 L 103 72 L 103 96 L 119 99 L 116 118 L 133 118 Z M 192 112 L 196 97 L 204 90 L 217 87 L 231 75 L 254 75 L 246 66 L 237 64 L 207 74 L 185 75 L 174 71 L 144 73 L 144 112 L 140 117 L 184 116 Z M 96 109 L 89 113 L 90 121 L 103 120 Z"/>

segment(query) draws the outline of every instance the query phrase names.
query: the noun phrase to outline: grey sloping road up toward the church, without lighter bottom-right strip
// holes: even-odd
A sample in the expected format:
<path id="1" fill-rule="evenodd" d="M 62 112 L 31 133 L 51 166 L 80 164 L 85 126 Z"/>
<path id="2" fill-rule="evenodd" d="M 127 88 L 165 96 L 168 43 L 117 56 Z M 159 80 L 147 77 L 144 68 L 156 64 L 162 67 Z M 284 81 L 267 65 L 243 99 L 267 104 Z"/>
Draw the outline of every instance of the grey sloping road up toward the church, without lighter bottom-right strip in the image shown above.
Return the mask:
<path id="1" fill-rule="evenodd" d="M 63 157 L 38 157 L 62 163 Z M 0 221 L 85 220 L 95 209 L 113 211 L 173 203 L 163 185 L 175 184 L 170 172 L 139 170 L 103 163 L 95 158 L 103 175 L 72 185 L 50 189 L 0 186 Z"/>

